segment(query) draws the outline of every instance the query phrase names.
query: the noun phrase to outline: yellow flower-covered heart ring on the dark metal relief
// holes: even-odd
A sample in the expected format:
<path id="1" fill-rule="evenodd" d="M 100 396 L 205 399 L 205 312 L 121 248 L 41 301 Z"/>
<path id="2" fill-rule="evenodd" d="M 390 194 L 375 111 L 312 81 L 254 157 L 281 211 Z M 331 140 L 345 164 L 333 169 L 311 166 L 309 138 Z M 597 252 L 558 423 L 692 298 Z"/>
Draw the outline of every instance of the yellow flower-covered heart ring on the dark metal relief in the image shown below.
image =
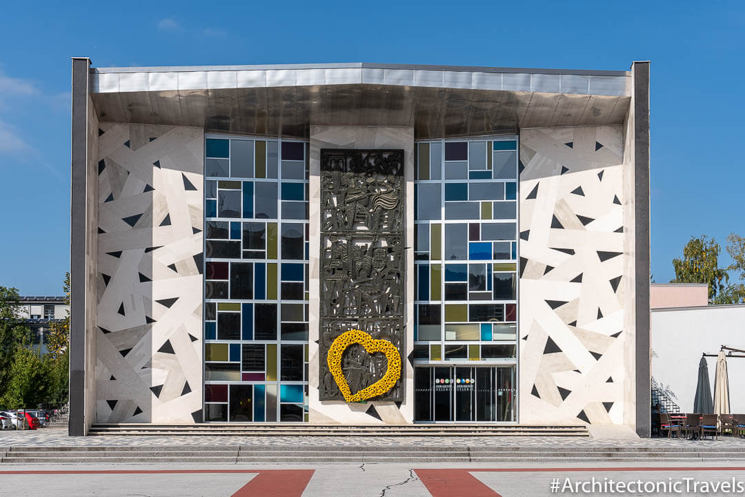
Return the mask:
<path id="1" fill-rule="evenodd" d="M 341 370 L 341 355 L 346 347 L 352 344 L 360 344 L 368 354 L 383 352 L 388 359 L 388 369 L 383 378 L 365 387 L 352 395 L 349 390 L 349 384 L 344 378 L 344 372 Z M 346 402 L 361 402 L 366 399 L 372 399 L 378 395 L 386 393 L 396 385 L 401 376 L 401 355 L 396 346 L 387 340 L 375 340 L 373 337 L 359 329 L 350 329 L 337 336 L 334 343 L 329 347 L 329 353 L 326 356 L 326 362 L 329 363 L 331 371 L 341 394 Z"/>

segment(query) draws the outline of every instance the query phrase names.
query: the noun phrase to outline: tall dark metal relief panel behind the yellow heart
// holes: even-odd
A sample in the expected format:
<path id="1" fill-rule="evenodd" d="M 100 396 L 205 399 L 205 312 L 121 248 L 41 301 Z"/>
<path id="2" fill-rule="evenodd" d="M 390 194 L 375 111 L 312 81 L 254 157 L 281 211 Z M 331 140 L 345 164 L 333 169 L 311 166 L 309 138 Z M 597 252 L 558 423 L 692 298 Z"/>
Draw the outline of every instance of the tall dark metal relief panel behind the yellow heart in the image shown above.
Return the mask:
<path id="1" fill-rule="evenodd" d="M 362 341 L 349 341 L 342 351 L 337 341 L 333 372 L 328 356 L 351 330 L 370 335 L 366 344 L 389 341 L 402 351 L 404 151 L 321 149 L 320 180 L 320 399 L 403 400 L 402 381 L 387 373 L 393 355 L 379 352 L 384 347 L 368 346 L 369 353 Z"/>

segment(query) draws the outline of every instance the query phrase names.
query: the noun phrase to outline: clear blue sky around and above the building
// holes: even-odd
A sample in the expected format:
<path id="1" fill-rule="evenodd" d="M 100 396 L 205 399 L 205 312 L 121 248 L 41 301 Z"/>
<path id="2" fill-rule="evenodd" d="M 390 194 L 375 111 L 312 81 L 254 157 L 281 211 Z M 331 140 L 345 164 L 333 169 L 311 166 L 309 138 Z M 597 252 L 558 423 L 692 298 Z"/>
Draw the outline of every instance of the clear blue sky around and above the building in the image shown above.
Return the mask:
<path id="1" fill-rule="evenodd" d="M 0 30 L 0 285 L 69 268 L 70 57 L 94 66 L 378 62 L 629 69 L 651 60 L 652 273 L 745 235 L 745 3 L 11 1 Z M 725 256 L 721 264 L 726 265 Z"/>

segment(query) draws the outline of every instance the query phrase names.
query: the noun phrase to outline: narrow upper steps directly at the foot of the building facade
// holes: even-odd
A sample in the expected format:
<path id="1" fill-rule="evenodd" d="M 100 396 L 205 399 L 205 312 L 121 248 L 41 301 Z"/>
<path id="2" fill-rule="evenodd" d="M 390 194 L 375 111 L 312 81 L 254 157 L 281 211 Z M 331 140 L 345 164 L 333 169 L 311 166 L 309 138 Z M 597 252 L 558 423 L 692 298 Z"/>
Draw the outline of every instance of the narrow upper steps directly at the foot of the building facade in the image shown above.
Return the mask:
<path id="1" fill-rule="evenodd" d="M 277 425 L 240 423 L 200 423 L 191 425 L 152 425 L 149 423 L 94 424 L 89 435 L 261 435 L 349 436 L 349 437 L 448 437 L 448 436 L 540 436 L 588 437 L 584 425 Z"/>

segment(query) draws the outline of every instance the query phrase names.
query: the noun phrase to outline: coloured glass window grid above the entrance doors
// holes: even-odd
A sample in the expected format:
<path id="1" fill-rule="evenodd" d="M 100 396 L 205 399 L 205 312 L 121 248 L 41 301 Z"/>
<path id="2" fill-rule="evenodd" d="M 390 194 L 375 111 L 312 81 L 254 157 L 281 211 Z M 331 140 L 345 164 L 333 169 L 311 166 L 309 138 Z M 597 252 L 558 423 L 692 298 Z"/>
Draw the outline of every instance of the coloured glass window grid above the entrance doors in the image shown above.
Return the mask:
<path id="1" fill-rule="evenodd" d="M 515 364 L 518 139 L 417 142 L 415 154 L 415 361 L 462 344 L 453 360 Z"/>

